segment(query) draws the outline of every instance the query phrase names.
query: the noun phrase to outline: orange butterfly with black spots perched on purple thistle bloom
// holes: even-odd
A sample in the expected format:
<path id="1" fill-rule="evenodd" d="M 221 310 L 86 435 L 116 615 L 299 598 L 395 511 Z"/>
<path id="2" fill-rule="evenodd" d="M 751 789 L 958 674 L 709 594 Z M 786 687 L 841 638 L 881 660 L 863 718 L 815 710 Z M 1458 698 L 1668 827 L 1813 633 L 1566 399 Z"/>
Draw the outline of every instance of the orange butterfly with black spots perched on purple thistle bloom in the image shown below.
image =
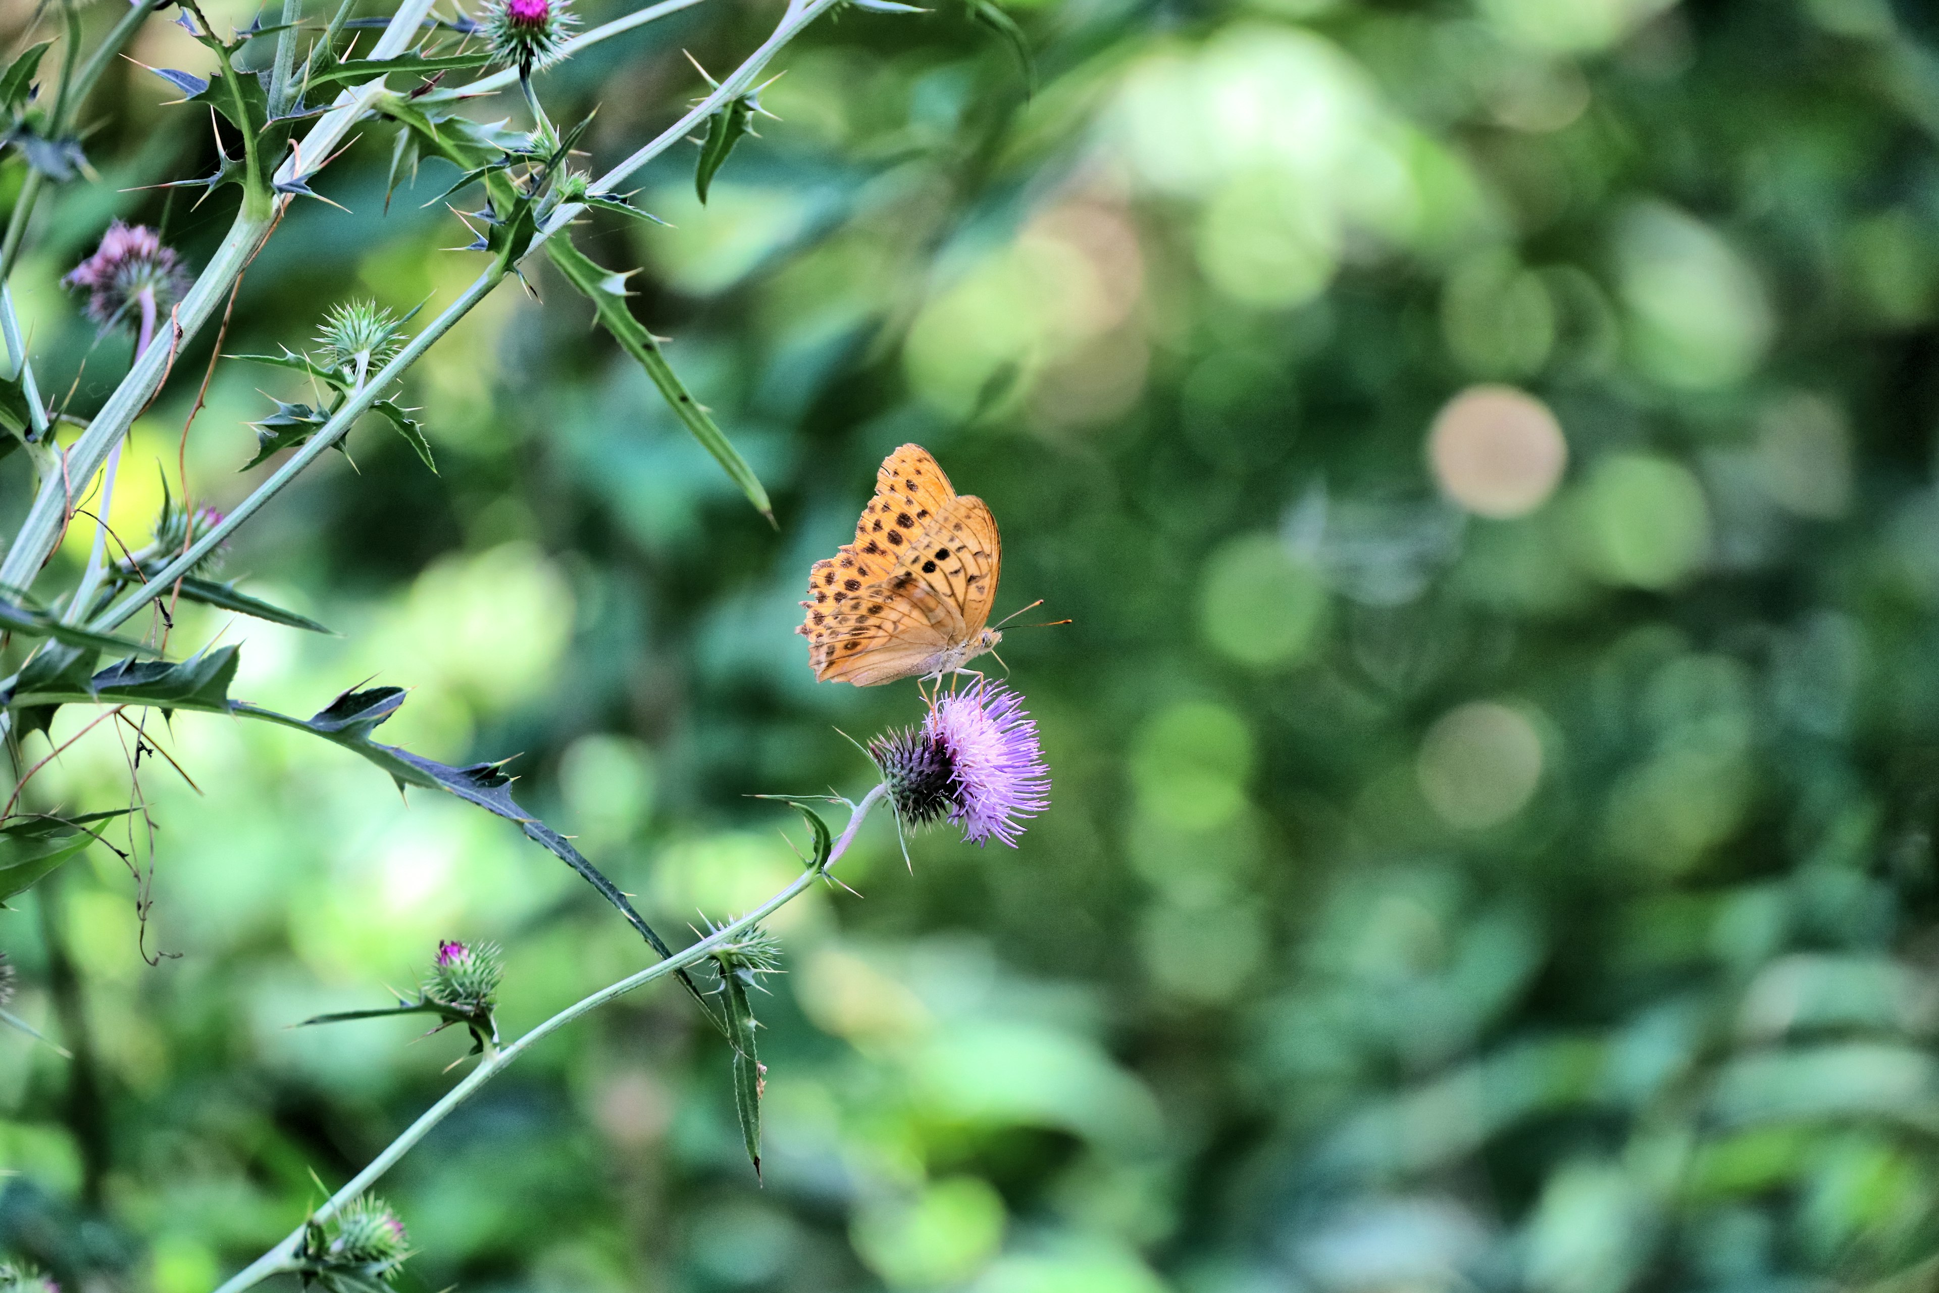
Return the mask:
<path id="1" fill-rule="evenodd" d="M 874 473 L 874 498 L 855 543 L 809 572 L 809 640 L 818 682 L 874 686 L 942 677 L 989 651 L 1002 568 L 997 518 L 981 498 L 950 489 L 919 444 L 904 444 Z"/>

